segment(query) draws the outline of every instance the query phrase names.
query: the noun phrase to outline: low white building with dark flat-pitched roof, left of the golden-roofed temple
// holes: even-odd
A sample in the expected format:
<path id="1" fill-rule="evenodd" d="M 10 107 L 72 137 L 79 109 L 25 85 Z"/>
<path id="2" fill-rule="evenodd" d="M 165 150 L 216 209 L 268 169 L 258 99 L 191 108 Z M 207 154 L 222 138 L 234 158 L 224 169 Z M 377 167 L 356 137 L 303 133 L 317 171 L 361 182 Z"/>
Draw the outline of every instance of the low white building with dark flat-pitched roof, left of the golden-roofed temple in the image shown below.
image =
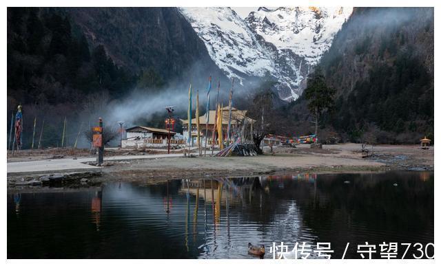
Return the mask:
<path id="1" fill-rule="evenodd" d="M 168 145 L 167 129 L 155 129 L 148 126 L 133 126 L 125 129 L 127 136 L 122 140 L 122 148 L 165 147 Z M 175 140 L 176 132 L 170 131 L 170 144 L 183 144 L 183 140 Z"/>

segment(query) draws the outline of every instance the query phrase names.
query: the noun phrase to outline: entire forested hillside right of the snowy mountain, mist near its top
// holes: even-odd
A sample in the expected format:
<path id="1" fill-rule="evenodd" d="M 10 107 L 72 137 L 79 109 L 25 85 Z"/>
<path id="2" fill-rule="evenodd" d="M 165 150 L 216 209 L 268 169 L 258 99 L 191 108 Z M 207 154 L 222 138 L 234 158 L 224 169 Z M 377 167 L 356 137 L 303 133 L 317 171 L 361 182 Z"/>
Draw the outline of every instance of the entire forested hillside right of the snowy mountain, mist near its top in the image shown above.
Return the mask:
<path id="1" fill-rule="evenodd" d="M 320 61 L 337 91 L 325 138 L 433 137 L 433 44 L 433 8 L 355 8 Z M 308 119 L 304 98 L 291 111 L 298 124 Z"/>

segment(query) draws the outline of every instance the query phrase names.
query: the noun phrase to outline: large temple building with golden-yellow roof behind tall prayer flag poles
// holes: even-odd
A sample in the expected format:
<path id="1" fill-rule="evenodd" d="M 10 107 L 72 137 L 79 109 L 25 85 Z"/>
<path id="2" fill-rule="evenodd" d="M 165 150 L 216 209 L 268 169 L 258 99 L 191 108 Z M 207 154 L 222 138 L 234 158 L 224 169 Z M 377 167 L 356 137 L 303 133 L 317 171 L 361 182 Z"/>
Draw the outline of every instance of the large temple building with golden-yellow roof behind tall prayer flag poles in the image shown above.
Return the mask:
<path id="1" fill-rule="evenodd" d="M 223 107 L 222 109 L 222 131 L 223 131 L 223 140 L 227 141 L 227 129 L 228 129 L 228 115 L 229 115 L 229 107 Z M 231 131 L 230 137 L 232 140 L 236 139 L 236 136 L 240 131 L 242 131 L 243 126 L 247 127 L 248 132 L 252 131 L 252 126 L 254 124 L 254 120 L 252 118 L 248 118 L 246 116 L 246 110 L 238 110 L 232 107 L 232 120 L 231 120 Z M 205 129 L 208 129 L 207 135 L 207 144 L 211 145 L 213 140 L 213 128 L 216 124 L 216 110 L 209 110 L 209 120 L 206 123 L 206 113 L 199 117 L 199 130 L 201 134 L 201 144 L 205 144 Z M 188 120 L 181 119 L 183 124 L 183 137 L 184 140 L 188 140 L 189 138 L 189 130 L 188 130 Z M 207 127 L 208 126 L 208 127 Z M 191 129 L 191 137 L 193 139 L 192 144 L 196 144 L 196 138 L 198 136 L 198 129 L 196 126 L 196 118 L 192 118 L 192 129 Z M 215 132 L 215 144 L 218 143 L 217 130 Z"/>

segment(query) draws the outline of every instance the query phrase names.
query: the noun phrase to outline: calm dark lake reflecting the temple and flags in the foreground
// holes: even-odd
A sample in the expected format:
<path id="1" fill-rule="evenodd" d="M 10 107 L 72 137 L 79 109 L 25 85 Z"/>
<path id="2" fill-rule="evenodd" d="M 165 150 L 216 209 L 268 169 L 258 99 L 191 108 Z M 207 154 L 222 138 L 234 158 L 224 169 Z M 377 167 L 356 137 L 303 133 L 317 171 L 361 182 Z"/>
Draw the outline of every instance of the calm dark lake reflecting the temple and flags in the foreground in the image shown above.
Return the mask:
<path id="1" fill-rule="evenodd" d="M 8 258 L 256 258 L 247 244 L 433 243 L 433 172 L 112 183 L 8 192 Z M 407 258 L 416 253 L 409 249 Z M 429 247 L 433 256 L 433 247 Z M 419 255 L 419 254 L 418 254 Z M 316 258 L 316 256 L 310 256 Z M 425 256 L 424 256 L 425 258 Z"/>

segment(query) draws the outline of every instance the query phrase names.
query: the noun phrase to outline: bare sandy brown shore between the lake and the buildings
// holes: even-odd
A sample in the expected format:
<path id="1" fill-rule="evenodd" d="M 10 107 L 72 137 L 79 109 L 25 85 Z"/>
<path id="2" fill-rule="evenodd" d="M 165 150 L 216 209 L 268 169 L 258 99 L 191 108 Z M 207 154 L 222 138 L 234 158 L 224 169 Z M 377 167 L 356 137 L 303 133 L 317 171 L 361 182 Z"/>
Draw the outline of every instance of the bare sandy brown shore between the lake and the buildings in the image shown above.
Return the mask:
<path id="1" fill-rule="evenodd" d="M 422 150 L 416 145 L 375 146 L 373 156 L 368 158 L 362 158 L 360 144 L 324 145 L 322 149 L 299 145 L 296 148 L 274 148 L 273 153 L 265 148 L 265 155 L 254 157 L 163 157 L 109 161 L 107 166 L 96 168 L 101 174 L 94 176 L 89 184 L 106 181 L 152 183 L 165 179 L 213 176 L 433 170 L 433 159 L 433 147 Z M 8 186 L 15 186 L 17 181 L 39 180 L 41 176 L 41 173 L 8 175 Z"/>

